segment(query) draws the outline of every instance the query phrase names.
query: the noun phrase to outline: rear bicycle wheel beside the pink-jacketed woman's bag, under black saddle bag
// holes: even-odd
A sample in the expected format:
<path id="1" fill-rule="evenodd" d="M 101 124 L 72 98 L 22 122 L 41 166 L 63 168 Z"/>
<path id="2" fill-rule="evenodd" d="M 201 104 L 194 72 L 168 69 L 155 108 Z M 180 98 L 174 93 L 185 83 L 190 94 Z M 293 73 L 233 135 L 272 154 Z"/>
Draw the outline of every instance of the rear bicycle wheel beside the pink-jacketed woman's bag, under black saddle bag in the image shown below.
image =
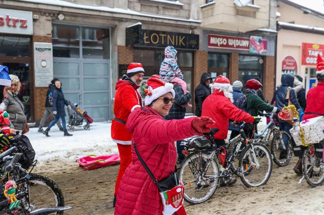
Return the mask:
<path id="1" fill-rule="evenodd" d="M 184 200 L 190 204 L 207 201 L 217 189 L 218 176 L 217 163 L 210 155 L 203 152 L 189 155 L 179 167 L 179 180 L 184 185 Z"/>

